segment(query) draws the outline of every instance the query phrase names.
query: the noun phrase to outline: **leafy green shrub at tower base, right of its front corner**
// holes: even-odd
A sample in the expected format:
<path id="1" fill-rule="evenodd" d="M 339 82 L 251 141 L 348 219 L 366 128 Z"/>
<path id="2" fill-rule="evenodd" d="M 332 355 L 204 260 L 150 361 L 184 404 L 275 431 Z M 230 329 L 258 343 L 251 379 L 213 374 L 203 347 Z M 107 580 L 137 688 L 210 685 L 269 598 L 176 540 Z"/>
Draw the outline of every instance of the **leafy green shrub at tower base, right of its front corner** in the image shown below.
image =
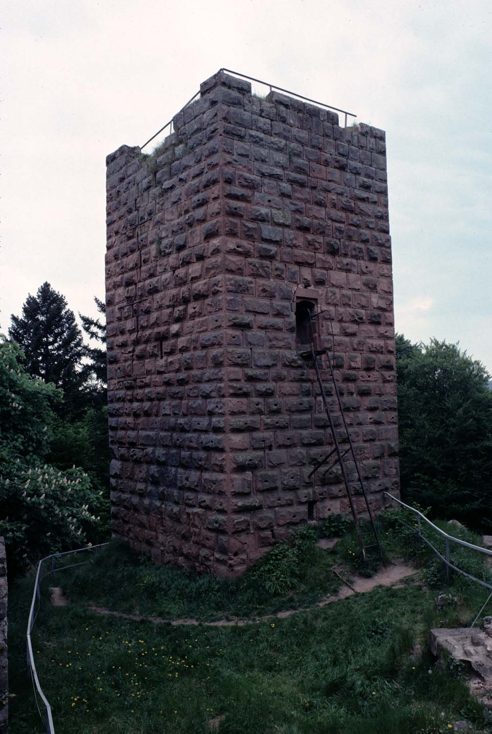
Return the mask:
<path id="1" fill-rule="evenodd" d="M 305 565 L 315 553 L 317 531 L 304 525 L 293 531 L 268 551 L 251 569 L 249 574 L 273 595 L 285 594 L 293 589 L 305 572 Z"/>

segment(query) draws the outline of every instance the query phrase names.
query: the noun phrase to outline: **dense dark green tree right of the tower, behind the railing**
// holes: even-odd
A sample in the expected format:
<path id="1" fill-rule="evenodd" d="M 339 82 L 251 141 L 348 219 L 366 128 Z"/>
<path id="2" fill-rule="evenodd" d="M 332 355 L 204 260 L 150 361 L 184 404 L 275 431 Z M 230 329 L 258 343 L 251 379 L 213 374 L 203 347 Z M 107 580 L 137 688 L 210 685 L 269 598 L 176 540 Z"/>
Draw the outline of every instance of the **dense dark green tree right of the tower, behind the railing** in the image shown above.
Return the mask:
<path id="1" fill-rule="evenodd" d="M 489 377 L 458 344 L 416 345 L 397 335 L 403 495 L 483 529 L 492 527 Z"/>

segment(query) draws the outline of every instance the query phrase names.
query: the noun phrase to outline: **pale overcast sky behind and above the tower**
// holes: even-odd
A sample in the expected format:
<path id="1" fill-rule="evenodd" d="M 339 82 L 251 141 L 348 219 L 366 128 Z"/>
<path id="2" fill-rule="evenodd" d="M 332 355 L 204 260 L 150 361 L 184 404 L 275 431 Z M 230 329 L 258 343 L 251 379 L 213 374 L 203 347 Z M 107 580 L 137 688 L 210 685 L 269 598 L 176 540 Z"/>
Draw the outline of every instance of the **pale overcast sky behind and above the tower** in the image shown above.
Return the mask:
<path id="1" fill-rule="evenodd" d="M 492 371 L 490 0 L 3 0 L 1 9 L 0 331 L 45 280 L 75 312 L 95 315 L 106 154 L 142 145 L 226 67 L 386 130 L 397 330 L 460 341 Z"/>

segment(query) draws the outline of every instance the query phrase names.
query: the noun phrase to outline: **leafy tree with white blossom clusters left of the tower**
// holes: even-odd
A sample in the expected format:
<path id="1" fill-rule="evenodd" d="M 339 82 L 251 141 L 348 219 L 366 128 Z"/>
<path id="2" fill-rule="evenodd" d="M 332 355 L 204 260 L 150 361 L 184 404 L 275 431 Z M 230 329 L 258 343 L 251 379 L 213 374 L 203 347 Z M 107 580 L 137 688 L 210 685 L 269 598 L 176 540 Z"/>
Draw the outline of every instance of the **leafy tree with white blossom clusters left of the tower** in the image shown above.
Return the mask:
<path id="1" fill-rule="evenodd" d="M 22 357 L 0 335 L 0 535 L 11 576 L 40 556 L 106 537 L 98 515 L 109 504 L 87 472 L 46 461 L 56 424 L 51 406 L 62 393 L 27 374 Z"/>

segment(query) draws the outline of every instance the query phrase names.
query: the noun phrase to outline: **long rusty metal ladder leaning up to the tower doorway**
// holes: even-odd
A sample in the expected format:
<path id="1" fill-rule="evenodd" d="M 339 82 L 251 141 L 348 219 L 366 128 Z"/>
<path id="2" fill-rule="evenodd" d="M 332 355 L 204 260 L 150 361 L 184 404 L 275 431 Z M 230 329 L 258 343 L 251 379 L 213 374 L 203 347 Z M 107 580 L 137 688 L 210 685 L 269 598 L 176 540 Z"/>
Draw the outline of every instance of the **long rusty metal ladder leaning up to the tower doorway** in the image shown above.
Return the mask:
<path id="1" fill-rule="evenodd" d="M 350 504 L 350 510 L 352 511 L 353 515 L 353 521 L 356 526 L 357 535 L 359 536 L 359 542 L 361 544 L 361 551 L 362 551 L 362 557 L 364 560 L 370 560 L 375 556 L 383 557 L 383 549 L 381 548 L 381 542 L 379 540 L 378 531 L 375 526 L 374 521 L 374 514 L 372 512 L 372 508 L 370 506 L 369 499 L 367 498 L 367 491 L 364 487 L 364 482 L 362 481 L 361 476 L 361 470 L 359 467 L 359 461 L 356 457 L 356 452 L 353 448 L 352 438 L 350 437 L 350 431 L 348 430 L 347 421 L 345 419 L 345 413 L 343 410 L 343 404 L 342 400 L 340 399 L 340 393 L 337 385 L 337 380 L 335 379 L 334 374 L 334 368 L 333 364 L 331 363 L 330 355 L 328 353 L 328 349 L 316 349 L 315 348 L 315 330 L 313 329 L 312 325 L 312 314 L 308 310 L 309 313 L 309 330 L 310 330 L 310 336 L 311 336 L 311 349 L 306 352 L 301 352 L 301 357 L 303 357 L 304 360 L 312 361 L 312 365 L 315 368 L 316 373 L 316 379 L 317 384 L 320 388 L 320 396 L 323 400 L 323 406 L 326 410 L 326 416 L 328 418 L 328 423 L 331 430 L 331 436 L 333 437 L 334 441 L 334 448 L 330 451 L 330 453 L 324 457 L 324 459 L 321 459 L 320 462 L 317 462 L 315 467 L 312 469 L 311 473 L 309 473 L 309 477 L 313 476 L 315 472 L 317 472 L 318 469 L 320 469 L 321 466 L 326 464 L 328 459 L 333 457 L 334 454 L 336 456 L 334 457 L 334 460 L 331 462 L 331 464 L 328 466 L 328 470 L 334 468 L 337 464 L 340 465 L 340 469 L 342 471 L 342 478 L 343 483 L 345 484 L 345 491 L 347 492 L 348 502 Z M 319 314 L 317 314 L 319 316 Z M 330 413 L 330 409 L 328 406 L 328 399 L 326 397 L 326 390 L 323 385 L 323 379 L 321 378 L 321 372 L 320 372 L 320 363 L 318 362 L 318 357 L 326 357 L 326 360 L 328 362 L 328 368 L 330 371 L 330 377 L 331 382 L 333 383 L 334 388 L 334 395 L 337 398 L 337 402 L 339 405 L 340 415 L 342 416 L 342 426 L 343 426 L 343 432 L 345 434 L 345 437 L 342 438 L 341 441 L 339 441 L 337 436 L 337 430 L 334 426 L 333 417 Z M 321 368 L 323 368 L 323 365 L 321 365 Z M 341 444 L 345 443 L 348 444 L 347 448 L 345 446 L 342 448 Z M 356 468 L 356 479 L 349 479 L 348 470 L 345 465 L 345 457 L 349 455 L 349 460 L 353 462 Z M 364 498 L 364 504 L 367 508 L 367 512 L 369 514 L 369 530 L 367 532 L 361 531 L 361 525 L 359 521 L 359 515 L 357 514 L 357 508 L 356 504 L 353 501 L 353 495 L 354 494 L 360 494 Z M 359 510 L 360 512 L 360 510 Z M 364 512 L 364 510 L 362 510 Z M 371 553 L 368 553 L 367 551 L 372 551 Z"/>

